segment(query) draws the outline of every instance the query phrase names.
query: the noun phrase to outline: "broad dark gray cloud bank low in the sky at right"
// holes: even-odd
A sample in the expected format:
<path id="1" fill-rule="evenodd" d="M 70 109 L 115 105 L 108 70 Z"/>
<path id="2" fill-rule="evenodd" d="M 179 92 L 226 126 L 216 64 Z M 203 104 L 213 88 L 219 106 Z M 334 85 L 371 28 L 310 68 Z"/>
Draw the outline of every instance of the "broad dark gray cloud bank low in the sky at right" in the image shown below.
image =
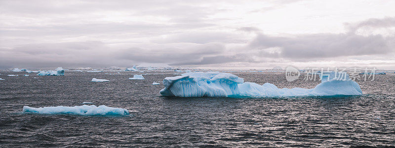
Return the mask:
<path id="1" fill-rule="evenodd" d="M 381 35 L 362 36 L 345 34 L 304 34 L 295 37 L 274 37 L 259 34 L 251 43 L 251 48 L 262 49 L 266 57 L 290 59 L 316 59 L 340 56 L 376 55 L 394 51 L 390 42 L 394 38 Z M 267 48 L 280 48 L 278 52 L 265 52 Z"/>

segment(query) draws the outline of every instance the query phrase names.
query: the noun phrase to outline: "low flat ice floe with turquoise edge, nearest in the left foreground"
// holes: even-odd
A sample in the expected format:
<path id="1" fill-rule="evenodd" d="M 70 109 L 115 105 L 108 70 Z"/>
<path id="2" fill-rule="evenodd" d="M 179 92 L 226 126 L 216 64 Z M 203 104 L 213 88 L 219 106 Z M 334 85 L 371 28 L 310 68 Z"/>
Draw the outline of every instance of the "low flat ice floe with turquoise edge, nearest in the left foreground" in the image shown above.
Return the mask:
<path id="1" fill-rule="evenodd" d="M 122 108 L 107 107 L 100 105 L 82 105 L 82 106 L 52 106 L 34 108 L 29 106 L 23 107 L 24 113 L 37 113 L 37 114 L 76 114 L 76 115 L 129 115 L 129 111 Z"/>

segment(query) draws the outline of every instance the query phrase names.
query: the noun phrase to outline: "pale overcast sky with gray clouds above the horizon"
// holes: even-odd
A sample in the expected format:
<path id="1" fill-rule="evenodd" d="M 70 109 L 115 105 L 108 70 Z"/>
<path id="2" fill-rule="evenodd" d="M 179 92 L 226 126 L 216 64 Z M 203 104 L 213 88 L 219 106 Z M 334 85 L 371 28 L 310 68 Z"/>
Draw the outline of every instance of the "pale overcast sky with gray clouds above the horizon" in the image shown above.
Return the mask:
<path id="1" fill-rule="evenodd" d="M 395 70 L 395 0 L 0 0 L 0 68 Z"/>

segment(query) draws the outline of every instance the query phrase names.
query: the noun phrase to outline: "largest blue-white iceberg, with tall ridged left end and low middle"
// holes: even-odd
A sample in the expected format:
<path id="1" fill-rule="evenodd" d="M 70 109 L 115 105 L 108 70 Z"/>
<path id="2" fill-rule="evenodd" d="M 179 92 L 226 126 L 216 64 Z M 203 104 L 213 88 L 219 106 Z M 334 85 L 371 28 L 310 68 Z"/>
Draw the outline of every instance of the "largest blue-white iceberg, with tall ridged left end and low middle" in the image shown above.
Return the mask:
<path id="1" fill-rule="evenodd" d="M 314 89 L 278 89 L 275 85 L 265 83 L 259 85 L 244 82 L 236 75 L 222 72 L 192 72 L 181 76 L 166 77 L 163 96 L 180 97 L 286 97 L 286 96 L 330 96 L 361 95 L 359 85 L 348 78 L 340 79 L 334 73 L 324 73 L 321 83 Z"/>

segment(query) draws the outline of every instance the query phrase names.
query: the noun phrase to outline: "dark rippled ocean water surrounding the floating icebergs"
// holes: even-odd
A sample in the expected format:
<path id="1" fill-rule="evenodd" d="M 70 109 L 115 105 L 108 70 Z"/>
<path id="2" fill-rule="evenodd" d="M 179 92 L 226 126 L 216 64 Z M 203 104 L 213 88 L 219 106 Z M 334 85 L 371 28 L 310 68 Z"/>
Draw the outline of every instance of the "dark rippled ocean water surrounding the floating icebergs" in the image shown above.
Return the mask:
<path id="1" fill-rule="evenodd" d="M 8 147 L 386 147 L 395 144 L 395 75 L 357 81 L 363 95 L 293 98 L 181 98 L 154 86 L 173 72 L 71 72 L 24 77 L 0 71 L 0 144 Z M 109 73 L 109 74 L 105 74 Z M 112 75 L 110 75 L 110 73 Z M 18 77 L 7 77 L 18 74 Z M 284 73 L 233 73 L 278 88 Z M 38 77 L 39 79 L 33 79 Z M 92 78 L 111 82 L 93 83 Z M 94 105 L 125 108 L 129 116 L 39 115 L 23 106 Z"/>

